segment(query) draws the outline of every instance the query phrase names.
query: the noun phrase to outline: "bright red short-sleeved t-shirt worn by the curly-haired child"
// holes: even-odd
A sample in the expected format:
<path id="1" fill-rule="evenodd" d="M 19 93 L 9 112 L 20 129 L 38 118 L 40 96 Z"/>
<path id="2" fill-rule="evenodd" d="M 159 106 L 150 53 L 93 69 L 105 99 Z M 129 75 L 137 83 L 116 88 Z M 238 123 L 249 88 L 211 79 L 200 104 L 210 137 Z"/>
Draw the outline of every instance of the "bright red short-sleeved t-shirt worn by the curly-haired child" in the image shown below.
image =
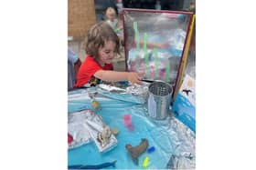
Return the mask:
<path id="1" fill-rule="evenodd" d="M 83 86 L 91 81 L 91 79 L 95 79 L 93 76 L 99 70 L 112 70 L 112 64 L 105 64 L 101 66 L 98 62 L 92 58 L 91 55 L 88 55 L 82 65 L 80 65 L 80 70 L 77 75 L 77 83 L 74 87 Z"/>

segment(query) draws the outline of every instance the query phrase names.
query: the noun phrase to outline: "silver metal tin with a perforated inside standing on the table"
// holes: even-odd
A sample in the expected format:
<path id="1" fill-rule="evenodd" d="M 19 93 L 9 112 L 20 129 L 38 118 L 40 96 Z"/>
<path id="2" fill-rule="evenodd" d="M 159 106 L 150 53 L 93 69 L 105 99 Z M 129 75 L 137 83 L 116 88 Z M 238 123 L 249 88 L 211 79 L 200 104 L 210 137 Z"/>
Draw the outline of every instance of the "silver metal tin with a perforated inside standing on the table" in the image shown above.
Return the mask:
<path id="1" fill-rule="evenodd" d="M 165 119 L 173 94 L 172 86 L 162 81 L 155 81 L 149 85 L 148 91 L 148 115 L 155 119 Z"/>

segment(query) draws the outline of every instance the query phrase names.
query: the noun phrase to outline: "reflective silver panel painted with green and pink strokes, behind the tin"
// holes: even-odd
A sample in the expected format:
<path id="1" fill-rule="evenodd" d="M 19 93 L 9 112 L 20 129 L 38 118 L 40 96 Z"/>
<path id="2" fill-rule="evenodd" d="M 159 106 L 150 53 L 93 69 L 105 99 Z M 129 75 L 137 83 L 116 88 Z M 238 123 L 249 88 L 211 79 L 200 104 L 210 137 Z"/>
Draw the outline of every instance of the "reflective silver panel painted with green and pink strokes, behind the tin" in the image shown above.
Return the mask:
<path id="1" fill-rule="evenodd" d="M 192 13 L 123 9 L 127 70 L 176 84 Z"/>

